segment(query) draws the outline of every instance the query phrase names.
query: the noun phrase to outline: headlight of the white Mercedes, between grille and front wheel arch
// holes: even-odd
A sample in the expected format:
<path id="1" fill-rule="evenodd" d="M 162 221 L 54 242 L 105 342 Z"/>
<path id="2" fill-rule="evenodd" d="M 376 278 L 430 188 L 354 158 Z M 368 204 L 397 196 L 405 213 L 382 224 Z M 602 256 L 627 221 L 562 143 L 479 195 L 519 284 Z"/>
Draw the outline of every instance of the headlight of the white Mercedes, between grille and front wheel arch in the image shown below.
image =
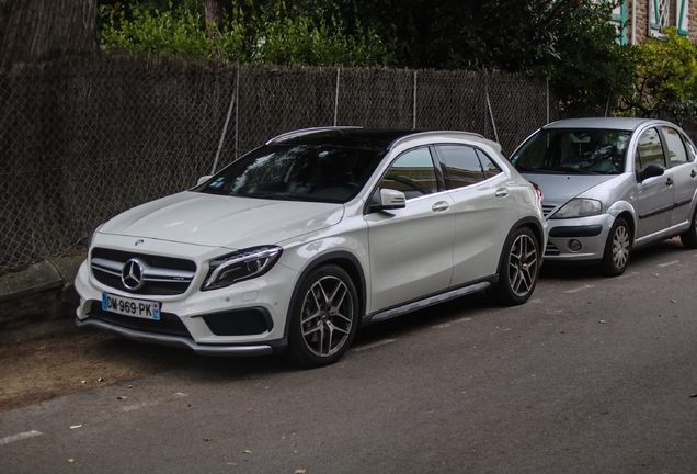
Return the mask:
<path id="1" fill-rule="evenodd" d="M 266 273 L 283 249 L 275 246 L 253 247 L 217 258 L 201 290 L 216 290 Z"/>

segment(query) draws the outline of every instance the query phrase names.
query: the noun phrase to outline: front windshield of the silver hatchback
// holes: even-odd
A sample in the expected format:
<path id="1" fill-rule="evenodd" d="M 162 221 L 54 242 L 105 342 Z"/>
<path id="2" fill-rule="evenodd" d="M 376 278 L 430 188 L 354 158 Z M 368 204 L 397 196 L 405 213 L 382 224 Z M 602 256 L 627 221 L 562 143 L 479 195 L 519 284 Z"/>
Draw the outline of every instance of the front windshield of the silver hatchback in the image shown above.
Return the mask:
<path id="1" fill-rule="evenodd" d="M 619 174 L 631 132 L 576 128 L 544 129 L 511 158 L 518 171 Z"/>

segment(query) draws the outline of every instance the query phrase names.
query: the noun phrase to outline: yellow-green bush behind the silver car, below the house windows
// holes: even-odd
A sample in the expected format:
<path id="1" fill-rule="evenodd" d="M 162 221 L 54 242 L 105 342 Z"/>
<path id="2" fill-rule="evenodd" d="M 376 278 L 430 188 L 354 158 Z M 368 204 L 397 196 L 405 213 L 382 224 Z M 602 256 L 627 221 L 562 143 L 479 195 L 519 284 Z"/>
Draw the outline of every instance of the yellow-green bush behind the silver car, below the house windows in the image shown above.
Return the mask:
<path id="1" fill-rule="evenodd" d="M 633 91 L 622 98 L 625 112 L 659 116 L 672 112 L 693 114 L 697 100 L 697 47 L 675 29 L 663 38 L 649 38 L 635 46 Z"/>

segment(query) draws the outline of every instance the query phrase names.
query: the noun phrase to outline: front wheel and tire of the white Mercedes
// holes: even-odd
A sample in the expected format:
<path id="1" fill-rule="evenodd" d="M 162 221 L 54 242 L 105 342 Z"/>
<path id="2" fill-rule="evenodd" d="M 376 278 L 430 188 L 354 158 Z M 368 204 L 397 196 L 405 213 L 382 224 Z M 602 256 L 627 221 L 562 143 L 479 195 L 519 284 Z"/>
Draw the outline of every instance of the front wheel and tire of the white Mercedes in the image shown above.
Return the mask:
<path id="1" fill-rule="evenodd" d="M 306 368 L 336 362 L 358 329 L 359 307 L 353 281 L 341 267 L 313 270 L 300 283 L 292 309 L 287 358 Z"/>

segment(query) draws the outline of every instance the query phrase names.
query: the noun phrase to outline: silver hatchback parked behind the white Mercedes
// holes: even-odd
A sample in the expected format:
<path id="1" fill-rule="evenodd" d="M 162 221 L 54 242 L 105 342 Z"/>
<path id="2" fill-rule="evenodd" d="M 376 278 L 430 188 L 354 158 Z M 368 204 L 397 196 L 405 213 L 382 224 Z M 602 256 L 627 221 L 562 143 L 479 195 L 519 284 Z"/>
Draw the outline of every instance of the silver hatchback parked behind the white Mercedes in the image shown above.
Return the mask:
<path id="1" fill-rule="evenodd" d="M 548 262 L 599 263 L 678 236 L 697 248 L 697 150 L 676 125 L 648 119 L 573 119 L 529 136 L 511 161 L 545 195 Z"/>

